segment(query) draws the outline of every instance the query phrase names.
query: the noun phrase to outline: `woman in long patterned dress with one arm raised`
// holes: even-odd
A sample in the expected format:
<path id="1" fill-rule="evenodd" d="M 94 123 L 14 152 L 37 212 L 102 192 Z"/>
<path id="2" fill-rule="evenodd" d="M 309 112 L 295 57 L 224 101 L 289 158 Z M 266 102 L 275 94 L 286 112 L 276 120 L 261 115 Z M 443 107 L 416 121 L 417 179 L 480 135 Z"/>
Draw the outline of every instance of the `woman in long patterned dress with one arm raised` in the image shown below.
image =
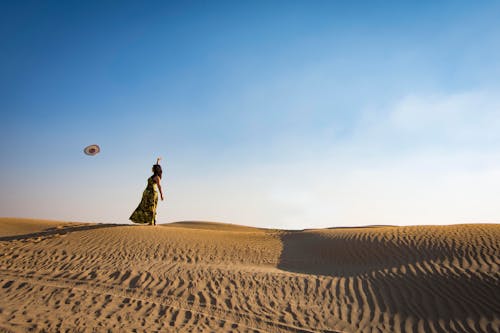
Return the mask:
<path id="1" fill-rule="evenodd" d="M 158 204 L 158 193 L 160 191 L 160 198 L 163 201 L 163 192 L 161 190 L 161 158 L 156 160 L 153 165 L 153 175 L 148 178 L 148 186 L 142 193 L 142 200 L 136 210 L 130 216 L 130 220 L 134 223 L 156 225 L 156 206 Z"/>

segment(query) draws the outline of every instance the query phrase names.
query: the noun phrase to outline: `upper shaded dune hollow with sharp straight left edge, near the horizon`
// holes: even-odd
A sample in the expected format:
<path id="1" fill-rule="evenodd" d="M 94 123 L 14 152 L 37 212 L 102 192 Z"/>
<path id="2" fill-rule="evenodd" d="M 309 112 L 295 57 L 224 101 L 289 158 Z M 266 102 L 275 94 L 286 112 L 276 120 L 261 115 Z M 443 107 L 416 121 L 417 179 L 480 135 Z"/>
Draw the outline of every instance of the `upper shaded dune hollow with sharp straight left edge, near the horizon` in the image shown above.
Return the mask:
<path id="1" fill-rule="evenodd" d="M 286 232 L 278 268 L 286 271 L 349 277 L 415 265 L 423 261 L 460 258 L 470 249 L 410 237 L 384 239 L 370 233 L 328 234 Z"/>

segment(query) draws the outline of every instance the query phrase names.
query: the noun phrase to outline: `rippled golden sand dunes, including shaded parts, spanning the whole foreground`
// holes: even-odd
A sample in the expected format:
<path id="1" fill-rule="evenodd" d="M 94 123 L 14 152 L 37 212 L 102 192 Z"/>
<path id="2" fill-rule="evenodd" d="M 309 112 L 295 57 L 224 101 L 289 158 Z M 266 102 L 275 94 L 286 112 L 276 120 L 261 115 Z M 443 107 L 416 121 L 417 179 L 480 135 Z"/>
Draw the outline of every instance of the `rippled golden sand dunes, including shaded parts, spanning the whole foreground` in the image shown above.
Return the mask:
<path id="1" fill-rule="evenodd" d="M 500 225 L 0 219 L 0 331 L 500 332 Z"/>

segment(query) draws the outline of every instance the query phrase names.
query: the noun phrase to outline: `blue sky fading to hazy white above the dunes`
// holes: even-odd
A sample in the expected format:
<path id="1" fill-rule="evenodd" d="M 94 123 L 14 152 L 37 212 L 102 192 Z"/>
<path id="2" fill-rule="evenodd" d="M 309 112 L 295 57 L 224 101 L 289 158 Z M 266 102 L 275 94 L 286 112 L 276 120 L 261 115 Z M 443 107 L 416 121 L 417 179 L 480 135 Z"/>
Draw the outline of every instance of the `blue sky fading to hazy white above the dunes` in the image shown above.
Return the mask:
<path id="1" fill-rule="evenodd" d="M 0 216 L 129 223 L 161 156 L 159 223 L 498 223 L 498 17 L 498 1 L 2 1 Z"/>

